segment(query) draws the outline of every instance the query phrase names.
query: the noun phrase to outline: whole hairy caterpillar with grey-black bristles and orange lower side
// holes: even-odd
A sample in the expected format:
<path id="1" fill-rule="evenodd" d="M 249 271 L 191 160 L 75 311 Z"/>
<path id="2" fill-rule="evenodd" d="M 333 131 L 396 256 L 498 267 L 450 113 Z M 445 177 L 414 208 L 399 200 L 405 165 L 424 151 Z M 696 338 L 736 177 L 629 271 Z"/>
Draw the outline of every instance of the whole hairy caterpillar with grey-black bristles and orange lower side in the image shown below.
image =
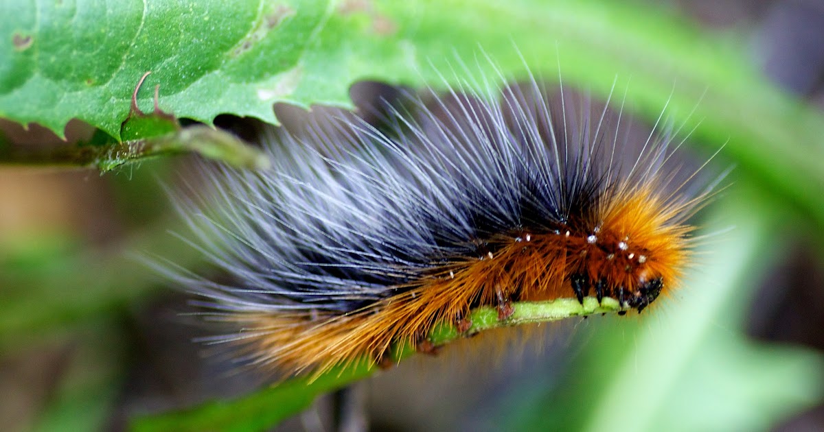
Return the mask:
<path id="1" fill-rule="evenodd" d="M 204 168 L 212 195 L 181 213 L 232 282 L 175 276 L 238 328 L 213 341 L 317 372 L 480 305 L 506 318 L 513 301 L 594 295 L 640 313 L 677 286 L 707 193 L 687 191 L 694 173 L 678 183 L 672 134 L 635 148 L 622 109 L 545 95 L 532 80 L 410 96 L 380 130 L 352 115 L 270 130 L 274 170 Z"/>

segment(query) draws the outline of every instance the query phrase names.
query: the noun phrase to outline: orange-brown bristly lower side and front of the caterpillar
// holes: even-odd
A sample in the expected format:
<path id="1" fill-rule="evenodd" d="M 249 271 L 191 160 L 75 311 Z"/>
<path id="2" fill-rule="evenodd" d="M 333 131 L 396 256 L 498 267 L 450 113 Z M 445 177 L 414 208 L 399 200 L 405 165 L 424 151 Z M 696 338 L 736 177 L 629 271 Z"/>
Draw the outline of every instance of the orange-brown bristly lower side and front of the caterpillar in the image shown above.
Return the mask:
<path id="1" fill-rule="evenodd" d="M 579 215 L 556 229 L 514 230 L 484 239 L 494 253 L 437 267 L 414 284 L 397 287 L 397 295 L 349 314 L 234 319 L 246 326 L 244 343 L 260 363 L 295 373 L 322 372 L 385 359 L 393 344 L 417 345 L 433 326 L 456 325 L 473 307 L 497 306 L 505 317 L 513 300 L 572 297 L 573 275 L 602 281 L 607 293 L 620 288 L 630 300 L 639 298 L 648 281 L 662 281 L 663 291 L 677 285 L 689 258 L 692 227 L 672 221 L 689 204 L 667 204 L 648 186 L 625 185 L 608 195 L 592 215 Z"/>

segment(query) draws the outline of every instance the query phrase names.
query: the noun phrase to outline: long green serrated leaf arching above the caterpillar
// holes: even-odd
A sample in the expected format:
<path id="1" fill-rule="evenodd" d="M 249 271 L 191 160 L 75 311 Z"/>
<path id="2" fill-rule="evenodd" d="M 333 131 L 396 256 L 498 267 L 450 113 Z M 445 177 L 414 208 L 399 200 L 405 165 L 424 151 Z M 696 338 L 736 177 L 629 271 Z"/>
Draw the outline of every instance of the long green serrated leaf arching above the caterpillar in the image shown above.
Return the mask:
<path id="1" fill-rule="evenodd" d="M 349 86 L 483 87 L 557 77 L 655 118 L 664 106 L 711 150 L 824 225 L 824 121 L 776 91 L 740 44 L 678 16 L 606 0 L 14 2 L 0 16 L 0 117 L 62 134 L 80 118 L 119 137 L 131 95 L 211 123 L 276 123 L 274 102 L 349 106 Z M 493 59 L 490 63 L 485 56 Z M 7 59 L 7 61 L 5 60 Z M 466 63 L 466 66 L 461 63 Z M 460 78 L 459 78 L 460 77 Z M 463 81 L 461 81 L 463 80 Z M 463 82 L 463 84 L 461 84 Z M 153 106 L 152 91 L 138 105 Z"/>

